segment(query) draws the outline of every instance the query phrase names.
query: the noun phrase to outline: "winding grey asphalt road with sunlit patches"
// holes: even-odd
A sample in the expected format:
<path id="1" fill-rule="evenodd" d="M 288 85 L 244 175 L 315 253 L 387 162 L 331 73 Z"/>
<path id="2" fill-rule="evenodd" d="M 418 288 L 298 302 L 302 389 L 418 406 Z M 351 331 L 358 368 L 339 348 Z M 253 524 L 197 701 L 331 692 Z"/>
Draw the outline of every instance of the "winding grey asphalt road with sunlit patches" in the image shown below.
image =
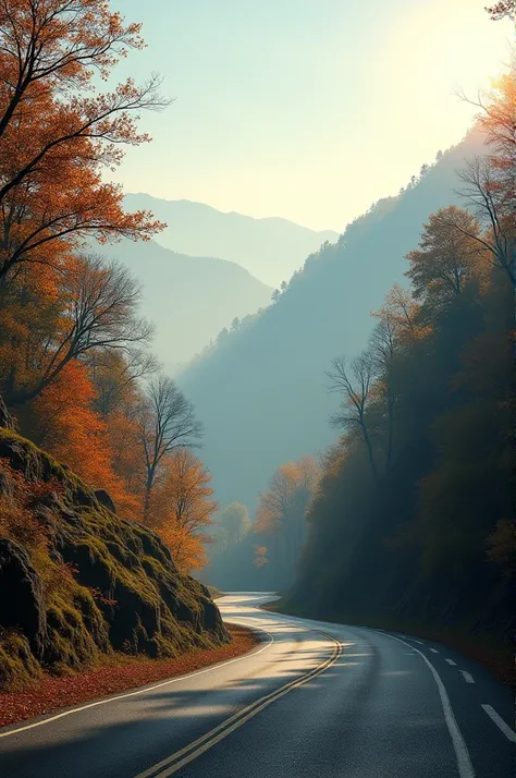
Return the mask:
<path id="1" fill-rule="evenodd" d="M 509 778 L 511 690 L 439 644 L 218 601 L 250 654 L 0 730 L 1 778 Z"/>

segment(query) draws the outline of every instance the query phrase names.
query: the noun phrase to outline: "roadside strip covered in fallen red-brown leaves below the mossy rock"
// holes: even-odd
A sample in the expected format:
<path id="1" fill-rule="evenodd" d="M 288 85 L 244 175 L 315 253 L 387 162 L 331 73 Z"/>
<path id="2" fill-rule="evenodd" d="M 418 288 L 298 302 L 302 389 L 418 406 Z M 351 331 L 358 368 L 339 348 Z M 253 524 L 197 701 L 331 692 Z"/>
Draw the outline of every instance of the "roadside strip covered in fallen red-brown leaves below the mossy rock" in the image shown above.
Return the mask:
<path id="1" fill-rule="evenodd" d="M 147 659 L 121 654 L 95 669 L 71 676 L 44 673 L 23 691 L 0 693 L 0 727 L 35 716 L 163 681 L 247 654 L 259 643 L 245 627 L 228 624 L 232 641 L 217 648 L 196 648 L 173 659 Z"/>

